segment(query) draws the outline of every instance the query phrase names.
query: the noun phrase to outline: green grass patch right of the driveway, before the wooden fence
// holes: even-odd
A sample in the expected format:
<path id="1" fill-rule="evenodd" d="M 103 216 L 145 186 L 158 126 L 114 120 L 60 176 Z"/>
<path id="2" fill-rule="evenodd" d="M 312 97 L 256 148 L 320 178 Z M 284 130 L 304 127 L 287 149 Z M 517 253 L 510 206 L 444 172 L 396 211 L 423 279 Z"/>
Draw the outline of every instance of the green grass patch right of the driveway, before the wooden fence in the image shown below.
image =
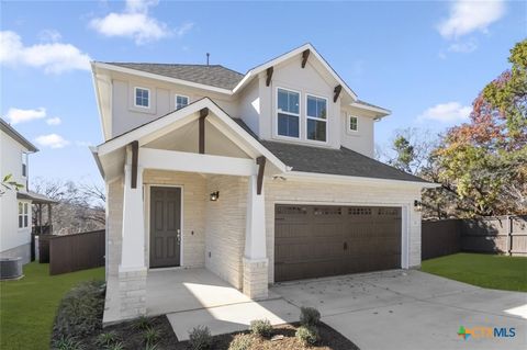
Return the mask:
<path id="1" fill-rule="evenodd" d="M 482 287 L 527 292 L 527 258 L 460 252 L 425 260 L 424 272 Z"/>

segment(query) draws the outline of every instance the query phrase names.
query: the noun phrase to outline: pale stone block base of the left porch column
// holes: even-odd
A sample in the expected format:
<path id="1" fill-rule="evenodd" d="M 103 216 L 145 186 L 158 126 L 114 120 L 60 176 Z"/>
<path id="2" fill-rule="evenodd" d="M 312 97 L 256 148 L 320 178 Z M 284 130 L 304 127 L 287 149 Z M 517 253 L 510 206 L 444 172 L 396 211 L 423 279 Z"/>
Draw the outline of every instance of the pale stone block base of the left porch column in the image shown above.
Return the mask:
<path id="1" fill-rule="evenodd" d="M 119 267 L 121 318 L 146 315 L 146 268 L 126 270 Z"/>

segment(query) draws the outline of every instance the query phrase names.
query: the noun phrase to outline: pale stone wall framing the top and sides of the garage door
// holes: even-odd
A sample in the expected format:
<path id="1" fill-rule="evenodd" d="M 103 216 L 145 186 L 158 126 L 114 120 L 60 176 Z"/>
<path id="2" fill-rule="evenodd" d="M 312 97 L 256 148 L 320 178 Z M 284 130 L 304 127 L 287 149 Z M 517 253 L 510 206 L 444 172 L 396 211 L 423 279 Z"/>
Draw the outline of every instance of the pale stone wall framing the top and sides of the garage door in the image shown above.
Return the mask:
<path id="1" fill-rule="evenodd" d="M 326 205 L 405 205 L 410 212 L 410 267 L 421 264 L 421 213 L 413 210 L 414 200 L 421 199 L 417 188 L 397 185 L 349 185 L 266 179 L 267 255 L 269 283 L 274 282 L 274 204 L 322 203 Z M 403 215 L 405 211 L 403 210 Z M 404 221 L 404 219 L 403 219 Z"/>

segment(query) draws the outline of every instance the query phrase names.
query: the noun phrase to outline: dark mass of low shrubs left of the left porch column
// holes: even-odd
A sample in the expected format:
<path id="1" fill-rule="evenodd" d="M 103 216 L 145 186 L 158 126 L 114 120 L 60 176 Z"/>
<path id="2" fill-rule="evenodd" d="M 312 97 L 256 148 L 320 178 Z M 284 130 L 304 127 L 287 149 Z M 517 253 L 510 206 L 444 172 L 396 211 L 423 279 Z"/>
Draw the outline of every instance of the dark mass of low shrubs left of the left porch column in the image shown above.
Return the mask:
<path id="1" fill-rule="evenodd" d="M 104 289 L 102 281 L 81 282 L 66 293 L 55 317 L 54 339 L 82 339 L 100 329 L 104 311 Z"/>

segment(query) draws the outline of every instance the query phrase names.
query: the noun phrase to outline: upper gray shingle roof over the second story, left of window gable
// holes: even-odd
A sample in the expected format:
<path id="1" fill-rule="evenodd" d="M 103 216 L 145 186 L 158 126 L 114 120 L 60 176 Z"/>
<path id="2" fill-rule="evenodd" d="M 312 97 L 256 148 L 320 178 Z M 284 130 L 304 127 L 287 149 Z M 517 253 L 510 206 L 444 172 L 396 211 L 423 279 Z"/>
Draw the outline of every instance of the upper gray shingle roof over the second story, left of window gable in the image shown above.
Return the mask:
<path id="1" fill-rule="evenodd" d="M 206 66 L 134 63 L 106 64 L 228 90 L 234 89 L 234 87 L 236 87 L 236 84 L 244 78 L 243 74 L 239 74 L 220 65 Z"/>

